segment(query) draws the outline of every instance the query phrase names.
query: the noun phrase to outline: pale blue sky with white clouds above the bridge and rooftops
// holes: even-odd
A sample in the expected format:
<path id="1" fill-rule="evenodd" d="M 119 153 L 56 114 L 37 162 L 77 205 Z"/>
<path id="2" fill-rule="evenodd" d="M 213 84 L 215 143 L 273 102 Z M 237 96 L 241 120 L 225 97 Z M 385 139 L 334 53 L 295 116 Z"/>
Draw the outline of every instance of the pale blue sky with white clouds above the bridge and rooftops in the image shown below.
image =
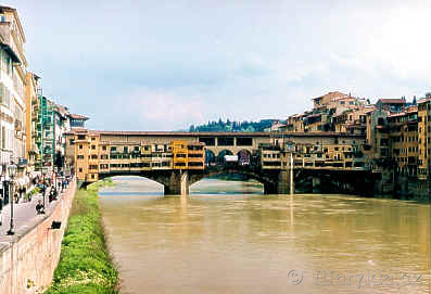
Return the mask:
<path id="1" fill-rule="evenodd" d="M 100 130 L 286 119 L 431 91 L 429 0 L 13 0 L 43 94 Z"/>

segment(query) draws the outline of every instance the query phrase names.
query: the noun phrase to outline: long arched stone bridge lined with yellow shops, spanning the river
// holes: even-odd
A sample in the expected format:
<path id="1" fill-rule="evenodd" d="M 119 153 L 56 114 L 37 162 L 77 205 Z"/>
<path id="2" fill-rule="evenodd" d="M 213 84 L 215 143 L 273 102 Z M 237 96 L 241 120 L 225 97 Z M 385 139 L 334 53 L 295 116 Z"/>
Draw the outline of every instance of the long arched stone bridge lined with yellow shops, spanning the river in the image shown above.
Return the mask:
<path id="1" fill-rule="evenodd" d="M 203 178 L 221 172 L 234 172 L 262 182 L 265 193 L 281 194 L 290 190 L 292 170 L 295 177 L 305 175 L 306 170 L 314 172 L 314 183 L 320 182 L 318 176 L 324 171 L 366 171 L 354 158 L 339 158 L 333 164 L 322 165 L 321 158 L 297 155 L 294 155 L 294 166 L 291 168 L 290 154 L 293 151 L 283 149 L 287 142 L 296 144 L 295 153 L 297 146 L 315 149 L 316 145 L 339 145 L 343 152 L 345 148 L 346 153 L 351 152 L 347 151 L 348 148 L 356 144 L 356 141 L 360 144 L 363 139 L 362 136 L 340 133 L 274 136 L 269 132 L 75 129 L 66 133 L 66 159 L 84 184 L 113 176 L 134 175 L 162 183 L 165 194 L 188 194 L 190 184 Z M 324 161 L 329 162 L 332 159 Z"/>

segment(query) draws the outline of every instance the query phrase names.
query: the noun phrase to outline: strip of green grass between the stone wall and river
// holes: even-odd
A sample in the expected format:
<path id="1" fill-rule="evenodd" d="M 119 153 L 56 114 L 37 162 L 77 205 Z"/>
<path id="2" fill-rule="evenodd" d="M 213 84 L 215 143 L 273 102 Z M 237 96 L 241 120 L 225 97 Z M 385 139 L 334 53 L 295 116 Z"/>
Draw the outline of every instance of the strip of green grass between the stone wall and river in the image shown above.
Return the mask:
<path id="1" fill-rule="evenodd" d="M 118 293 L 118 272 L 106 248 L 97 193 L 113 184 L 100 181 L 75 195 L 60 261 L 46 294 Z"/>

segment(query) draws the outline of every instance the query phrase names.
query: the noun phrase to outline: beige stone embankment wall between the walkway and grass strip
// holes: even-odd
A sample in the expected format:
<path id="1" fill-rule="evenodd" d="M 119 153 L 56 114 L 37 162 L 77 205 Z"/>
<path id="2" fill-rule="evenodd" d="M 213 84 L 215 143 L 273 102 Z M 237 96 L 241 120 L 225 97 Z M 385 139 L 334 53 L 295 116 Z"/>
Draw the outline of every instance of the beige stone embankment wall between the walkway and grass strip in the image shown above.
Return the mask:
<path id="1" fill-rule="evenodd" d="M 75 192 L 73 180 L 52 210 L 36 216 L 40 221 L 17 228 L 11 241 L 0 244 L 1 294 L 41 293 L 51 284 Z M 60 228 L 52 228 L 54 221 Z"/>

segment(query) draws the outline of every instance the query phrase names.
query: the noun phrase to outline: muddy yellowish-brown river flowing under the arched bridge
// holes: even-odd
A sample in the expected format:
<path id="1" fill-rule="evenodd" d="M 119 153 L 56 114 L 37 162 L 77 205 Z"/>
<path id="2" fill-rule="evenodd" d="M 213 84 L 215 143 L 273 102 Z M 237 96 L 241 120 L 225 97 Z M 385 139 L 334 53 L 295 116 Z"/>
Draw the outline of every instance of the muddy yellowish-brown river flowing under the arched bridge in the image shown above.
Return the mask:
<path id="1" fill-rule="evenodd" d="M 100 203 L 124 294 L 431 292 L 429 204 L 114 181 Z"/>

